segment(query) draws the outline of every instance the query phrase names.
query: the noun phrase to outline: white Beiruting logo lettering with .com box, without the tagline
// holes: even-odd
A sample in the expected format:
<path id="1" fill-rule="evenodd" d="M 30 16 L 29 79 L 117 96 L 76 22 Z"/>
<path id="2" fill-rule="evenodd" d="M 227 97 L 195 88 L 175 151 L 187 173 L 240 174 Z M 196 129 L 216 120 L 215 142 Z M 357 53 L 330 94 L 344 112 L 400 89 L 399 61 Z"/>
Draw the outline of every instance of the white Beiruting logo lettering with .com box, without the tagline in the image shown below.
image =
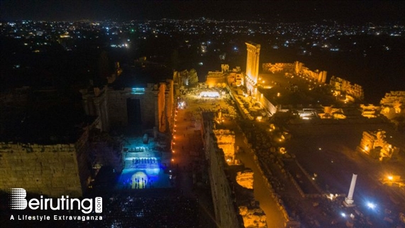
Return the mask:
<path id="1" fill-rule="evenodd" d="M 69 195 L 61 196 L 57 199 L 44 198 L 42 195 L 40 199 L 26 200 L 27 192 L 23 188 L 10 189 L 10 208 L 13 210 L 25 210 L 27 206 L 30 210 L 82 210 L 84 214 L 89 214 L 93 211 L 103 212 L 103 199 L 96 197 L 94 199 L 84 198 L 79 200 L 77 198 L 70 198 Z"/>

